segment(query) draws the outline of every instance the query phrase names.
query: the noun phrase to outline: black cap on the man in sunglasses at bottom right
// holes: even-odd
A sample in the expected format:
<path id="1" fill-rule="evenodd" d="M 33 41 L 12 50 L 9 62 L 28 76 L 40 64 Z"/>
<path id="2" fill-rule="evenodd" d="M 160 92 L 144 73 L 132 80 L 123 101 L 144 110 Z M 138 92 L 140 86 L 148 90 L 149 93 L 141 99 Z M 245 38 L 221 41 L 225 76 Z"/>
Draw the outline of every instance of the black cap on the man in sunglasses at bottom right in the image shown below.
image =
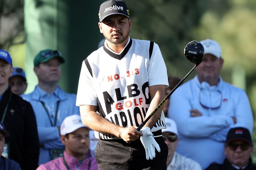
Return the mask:
<path id="1" fill-rule="evenodd" d="M 232 128 L 228 131 L 226 144 L 234 140 L 243 140 L 248 143 L 252 143 L 252 137 L 248 129 L 243 127 Z"/>

